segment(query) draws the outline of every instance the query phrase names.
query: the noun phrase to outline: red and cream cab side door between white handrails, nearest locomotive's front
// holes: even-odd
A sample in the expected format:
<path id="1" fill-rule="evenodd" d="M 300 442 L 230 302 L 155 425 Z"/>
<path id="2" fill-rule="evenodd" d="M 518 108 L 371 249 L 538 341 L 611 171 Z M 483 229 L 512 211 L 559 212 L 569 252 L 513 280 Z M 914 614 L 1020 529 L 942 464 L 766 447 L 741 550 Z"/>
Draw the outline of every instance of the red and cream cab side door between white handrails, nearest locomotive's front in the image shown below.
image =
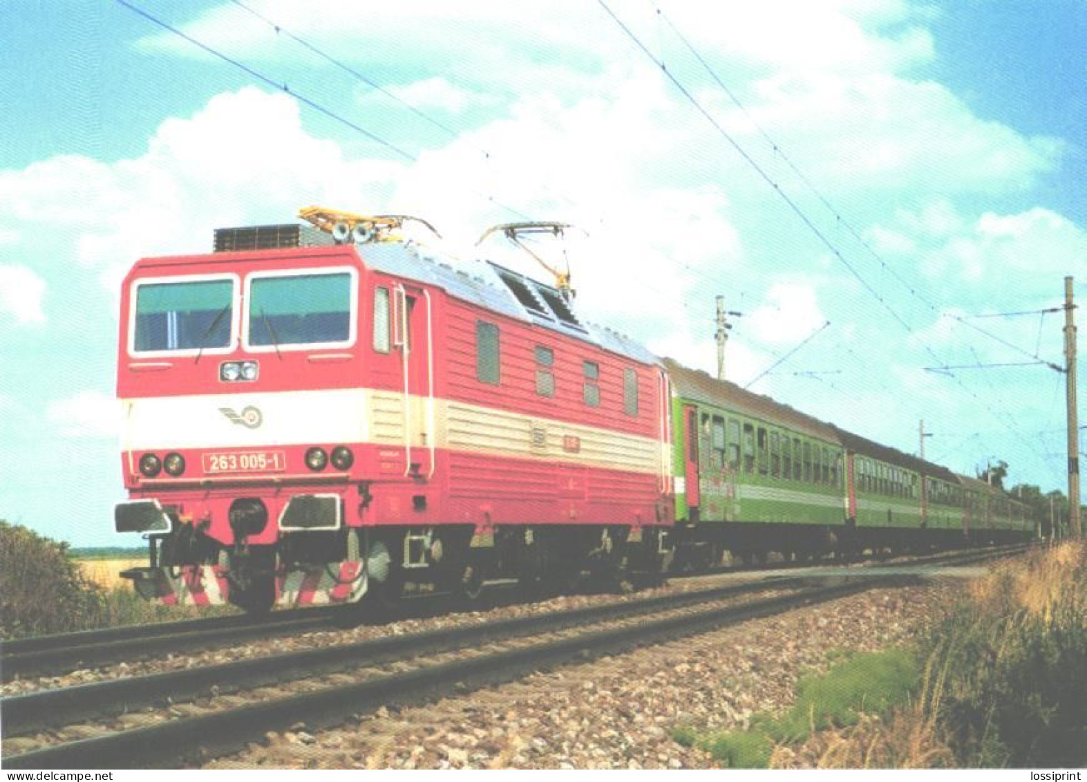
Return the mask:
<path id="1" fill-rule="evenodd" d="M 404 475 L 434 475 L 434 313 L 428 290 L 397 285 L 393 345 L 401 355 Z"/>

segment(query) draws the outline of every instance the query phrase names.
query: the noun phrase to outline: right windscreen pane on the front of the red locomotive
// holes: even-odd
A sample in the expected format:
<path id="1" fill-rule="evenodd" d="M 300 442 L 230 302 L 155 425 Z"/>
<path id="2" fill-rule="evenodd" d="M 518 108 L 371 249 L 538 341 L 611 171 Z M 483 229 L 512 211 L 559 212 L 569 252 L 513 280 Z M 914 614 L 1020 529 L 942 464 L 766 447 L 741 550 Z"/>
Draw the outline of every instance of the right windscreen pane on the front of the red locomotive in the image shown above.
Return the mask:
<path id="1" fill-rule="evenodd" d="M 328 345 L 351 340 L 351 274 L 253 276 L 249 345 Z"/>

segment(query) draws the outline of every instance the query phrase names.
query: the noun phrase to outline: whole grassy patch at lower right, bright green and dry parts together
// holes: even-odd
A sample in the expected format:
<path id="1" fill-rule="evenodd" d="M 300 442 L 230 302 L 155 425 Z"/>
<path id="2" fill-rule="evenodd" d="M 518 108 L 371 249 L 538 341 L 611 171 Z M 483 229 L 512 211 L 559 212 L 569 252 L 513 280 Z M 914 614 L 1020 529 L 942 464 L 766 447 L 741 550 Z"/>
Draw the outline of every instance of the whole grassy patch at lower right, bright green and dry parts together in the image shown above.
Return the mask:
<path id="1" fill-rule="evenodd" d="M 913 649 L 855 655 L 800 682 L 747 731 L 673 732 L 734 768 L 1087 766 L 1087 546 L 1064 543 L 971 582 Z"/>

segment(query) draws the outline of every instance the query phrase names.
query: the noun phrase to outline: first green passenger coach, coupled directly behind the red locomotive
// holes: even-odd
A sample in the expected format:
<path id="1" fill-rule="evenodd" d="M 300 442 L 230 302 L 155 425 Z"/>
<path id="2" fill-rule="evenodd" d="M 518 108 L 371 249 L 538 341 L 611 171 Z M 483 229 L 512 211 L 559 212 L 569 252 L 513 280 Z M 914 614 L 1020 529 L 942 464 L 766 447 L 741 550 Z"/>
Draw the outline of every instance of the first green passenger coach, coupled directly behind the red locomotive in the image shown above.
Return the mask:
<path id="1" fill-rule="evenodd" d="M 664 359 L 673 385 L 676 557 L 709 564 L 836 548 L 845 527 L 835 430 L 774 400 Z"/>

